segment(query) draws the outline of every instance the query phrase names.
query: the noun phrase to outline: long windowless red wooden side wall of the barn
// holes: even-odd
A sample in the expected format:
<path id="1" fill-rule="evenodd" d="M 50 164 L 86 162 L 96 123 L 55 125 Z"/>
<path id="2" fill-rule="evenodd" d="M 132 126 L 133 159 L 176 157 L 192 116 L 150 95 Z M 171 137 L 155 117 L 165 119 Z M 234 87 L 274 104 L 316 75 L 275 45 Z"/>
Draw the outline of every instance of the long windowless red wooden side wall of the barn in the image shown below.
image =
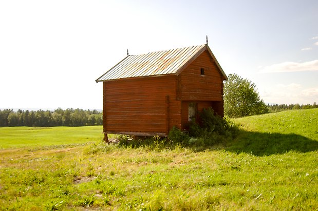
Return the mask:
<path id="1" fill-rule="evenodd" d="M 175 88 L 175 75 L 103 82 L 104 132 L 166 135 L 181 127 Z"/>

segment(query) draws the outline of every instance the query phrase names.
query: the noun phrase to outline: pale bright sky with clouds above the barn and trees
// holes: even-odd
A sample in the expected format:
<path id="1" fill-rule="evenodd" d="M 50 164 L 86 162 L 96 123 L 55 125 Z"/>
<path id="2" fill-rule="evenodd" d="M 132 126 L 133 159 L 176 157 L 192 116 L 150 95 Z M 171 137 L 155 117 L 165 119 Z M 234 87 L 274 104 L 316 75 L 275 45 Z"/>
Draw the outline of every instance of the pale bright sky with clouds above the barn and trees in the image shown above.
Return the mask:
<path id="1" fill-rule="evenodd" d="M 102 108 L 126 55 L 201 45 L 265 103 L 318 103 L 318 1 L 0 1 L 0 108 Z"/>

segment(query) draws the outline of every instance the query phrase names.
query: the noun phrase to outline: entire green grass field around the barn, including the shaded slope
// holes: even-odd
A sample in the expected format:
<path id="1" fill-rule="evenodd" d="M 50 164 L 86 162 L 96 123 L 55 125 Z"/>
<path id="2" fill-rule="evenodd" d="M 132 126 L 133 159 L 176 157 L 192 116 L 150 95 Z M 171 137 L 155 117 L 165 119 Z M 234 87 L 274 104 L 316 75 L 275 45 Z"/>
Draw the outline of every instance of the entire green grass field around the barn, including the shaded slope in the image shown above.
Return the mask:
<path id="1" fill-rule="evenodd" d="M 69 128 L 65 136 L 81 134 L 80 142 L 48 147 L 29 145 L 36 133 L 25 133 L 27 147 L 0 150 L 0 210 L 317 210 L 317 115 L 236 119 L 234 140 L 200 151 L 160 140 L 104 145 L 101 127 Z M 51 138 L 62 138 L 56 129 Z M 86 137 L 95 143 L 71 144 Z"/>

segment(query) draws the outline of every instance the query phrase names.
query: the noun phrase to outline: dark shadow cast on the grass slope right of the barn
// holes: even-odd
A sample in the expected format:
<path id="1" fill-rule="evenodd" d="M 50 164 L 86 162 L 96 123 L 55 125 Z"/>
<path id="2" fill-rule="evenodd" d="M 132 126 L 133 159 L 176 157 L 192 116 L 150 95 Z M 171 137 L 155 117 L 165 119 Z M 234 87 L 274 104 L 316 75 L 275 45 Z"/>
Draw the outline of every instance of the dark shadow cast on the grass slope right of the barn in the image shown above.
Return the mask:
<path id="1" fill-rule="evenodd" d="M 296 134 L 250 132 L 240 130 L 227 144 L 226 151 L 246 152 L 255 156 L 283 154 L 288 151 L 309 152 L 318 149 L 318 141 Z"/>

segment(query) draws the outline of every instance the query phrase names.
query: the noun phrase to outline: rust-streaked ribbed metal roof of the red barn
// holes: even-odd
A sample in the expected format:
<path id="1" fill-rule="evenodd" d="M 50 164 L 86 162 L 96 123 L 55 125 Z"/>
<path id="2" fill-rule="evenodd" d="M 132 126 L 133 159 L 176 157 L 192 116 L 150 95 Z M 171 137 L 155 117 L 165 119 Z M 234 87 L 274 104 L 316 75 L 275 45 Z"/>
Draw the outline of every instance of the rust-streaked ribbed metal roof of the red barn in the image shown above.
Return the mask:
<path id="1" fill-rule="evenodd" d="M 205 50 L 209 51 L 221 73 L 225 76 L 225 79 L 227 79 L 226 74 L 219 66 L 208 45 L 199 45 L 149 52 L 141 55 L 128 55 L 113 68 L 100 76 L 96 82 L 144 76 L 178 74 Z"/>

